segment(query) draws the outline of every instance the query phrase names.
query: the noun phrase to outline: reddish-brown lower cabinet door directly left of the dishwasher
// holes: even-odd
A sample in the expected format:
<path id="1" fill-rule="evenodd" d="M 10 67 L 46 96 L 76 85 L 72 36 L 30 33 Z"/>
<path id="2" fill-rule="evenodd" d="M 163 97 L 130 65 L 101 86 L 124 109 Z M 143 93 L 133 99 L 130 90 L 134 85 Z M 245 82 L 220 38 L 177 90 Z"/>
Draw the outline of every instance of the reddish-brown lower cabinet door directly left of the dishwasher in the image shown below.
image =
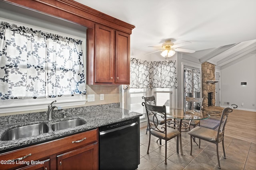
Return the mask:
<path id="1" fill-rule="evenodd" d="M 97 170 L 98 143 L 57 156 L 58 170 Z"/>

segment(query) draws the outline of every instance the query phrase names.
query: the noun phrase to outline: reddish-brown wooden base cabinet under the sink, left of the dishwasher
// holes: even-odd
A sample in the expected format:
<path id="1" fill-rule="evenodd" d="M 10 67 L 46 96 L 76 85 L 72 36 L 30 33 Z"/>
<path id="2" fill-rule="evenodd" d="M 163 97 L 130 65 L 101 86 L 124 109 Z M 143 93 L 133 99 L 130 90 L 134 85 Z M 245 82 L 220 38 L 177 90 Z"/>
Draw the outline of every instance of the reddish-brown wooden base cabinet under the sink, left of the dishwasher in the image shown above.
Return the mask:
<path id="1" fill-rule="evenodd" d="M 18 161 L 17 158 L 22 160 Z M 75 170 L 79 164 L 82 164 L 84 168 L 90 167 L 91 170 L 97 170 L 98 129 L 2 153 L 0 160 L 6 160 L 6 164 L 0 164 L 1 170 L 65 169 L 64 166 L 60 166 L 60 160 L 62 165 L 69 169 Z M 13 161 L 7 163 L 8 160 Z M 31 164 L 33 161 L 41 163 Z"/>

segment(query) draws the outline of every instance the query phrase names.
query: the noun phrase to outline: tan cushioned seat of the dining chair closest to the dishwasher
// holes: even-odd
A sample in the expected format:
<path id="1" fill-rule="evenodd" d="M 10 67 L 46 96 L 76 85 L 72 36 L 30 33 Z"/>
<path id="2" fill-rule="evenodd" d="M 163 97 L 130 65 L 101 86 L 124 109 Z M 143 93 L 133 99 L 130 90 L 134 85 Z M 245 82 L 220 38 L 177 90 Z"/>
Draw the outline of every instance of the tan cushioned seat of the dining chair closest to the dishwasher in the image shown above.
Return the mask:
<path id="1" fill-rule="evenodd" d="M 158 125 L 158 129 L 161 129 L 161 128 L 164 128 L 164 126 L 163 125 Z M 179 131 L 177 131 L 175 129 L 172 129 L 170 127 L 166 127 L 166 130 L 167 130 L 167 139 L 165 139 L 165 133 L 156 131 L 154 129 L 151 129 L 150 132 L 155 137 L 158 137 L 160 139 L 164 139 L 164 140 L 167 140 L 167 141 L 180 134 Z"/>

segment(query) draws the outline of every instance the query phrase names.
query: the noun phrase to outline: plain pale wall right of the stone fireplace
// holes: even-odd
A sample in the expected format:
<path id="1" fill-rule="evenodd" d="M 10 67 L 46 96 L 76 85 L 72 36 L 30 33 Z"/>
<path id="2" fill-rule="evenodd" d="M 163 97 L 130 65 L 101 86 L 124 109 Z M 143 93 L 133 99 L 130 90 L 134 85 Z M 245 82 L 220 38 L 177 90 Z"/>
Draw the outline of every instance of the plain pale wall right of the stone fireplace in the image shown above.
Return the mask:
<path id="1" fill-rule="evenodd" d="M 220 102 L 237 104 L 238 109 L 256 111 L 256 55 L 223 68 L 220 76 Z M 241 82 L 247 82 L 242 86 Z M 244 106 L 242 106 L 244 103 Z M 253 106 L 254 104 L 254 106 Z"/>

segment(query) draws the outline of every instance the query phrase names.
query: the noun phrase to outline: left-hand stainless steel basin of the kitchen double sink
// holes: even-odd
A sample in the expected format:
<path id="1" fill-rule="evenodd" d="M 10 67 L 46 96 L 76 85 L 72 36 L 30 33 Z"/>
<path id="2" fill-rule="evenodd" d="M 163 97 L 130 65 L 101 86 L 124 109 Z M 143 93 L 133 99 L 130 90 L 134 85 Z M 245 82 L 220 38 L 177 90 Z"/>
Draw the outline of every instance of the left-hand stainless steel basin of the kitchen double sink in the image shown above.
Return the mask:
<path id="1" fill-rule="evenodd" d="M 33 125 L 16 127 L 8 130 L 2 136 L 1 141 L 10 141 L 14 139 L 20 139 L 23 137 L 36 136 L 42 133 L 47 133 L 48 131 L 49 131 L 49 126 L 46 123 L 38 123 Z"/>

